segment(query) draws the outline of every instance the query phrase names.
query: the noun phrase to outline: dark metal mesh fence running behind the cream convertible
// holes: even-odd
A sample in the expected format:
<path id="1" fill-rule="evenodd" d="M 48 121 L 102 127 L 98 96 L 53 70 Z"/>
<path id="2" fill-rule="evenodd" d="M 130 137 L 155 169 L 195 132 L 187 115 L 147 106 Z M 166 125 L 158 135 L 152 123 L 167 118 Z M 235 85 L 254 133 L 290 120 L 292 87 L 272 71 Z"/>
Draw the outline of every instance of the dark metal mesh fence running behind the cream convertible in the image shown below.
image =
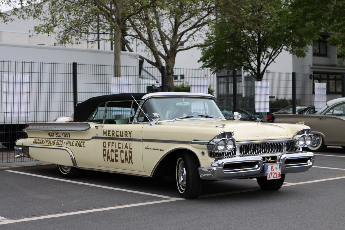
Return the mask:
<path id="1" fill-rule="evenodd" d="M 74 72 L 73 66 L 76 66 Z M 296 73 L 296 87 L 293 88 L 292 73 L 266 72 L 262 81 L 257 81 L 252 73 L 240 70 L 175 68 L 161 73 L 156 67 L 121 66 L 121 77 L 116 71 L 111 65 L 0 61 L 0 163 L 31 160 L 15 159 L 12 151 L 14 141 L 26 135 L 22 131 L 26 123 L 72 116 L 74 103 L 91 97 L 122 92 L 160 92 L 163 91 L 162 80 L 166 81 L 165 91 L 210 93 L 223 108 L 232 108 L 235 100 L 238 109 L 263 120 L 284 108 L 292 112 L 294 103 L 297 110 L 315 107 L 318 100 L 322 104 L 342 97 L 343 91 L 340 75 Z M 73 81 L 73 77 L 76 80 Z M 326 86 L 323 97 L 316 96 L 317 83 Z"/>

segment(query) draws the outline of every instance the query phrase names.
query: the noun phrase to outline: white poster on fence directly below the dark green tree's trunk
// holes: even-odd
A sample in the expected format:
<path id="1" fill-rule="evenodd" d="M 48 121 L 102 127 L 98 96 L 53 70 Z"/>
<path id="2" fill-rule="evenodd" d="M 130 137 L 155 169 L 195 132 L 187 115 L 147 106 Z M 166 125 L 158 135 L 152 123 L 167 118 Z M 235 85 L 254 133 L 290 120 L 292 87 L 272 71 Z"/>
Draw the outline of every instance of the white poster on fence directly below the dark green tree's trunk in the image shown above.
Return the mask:
<path id="1" fill-rule="evenodd" d="M 269 88 L 268 81 L 255 82 L 255 112 L 269 112 Z"/>

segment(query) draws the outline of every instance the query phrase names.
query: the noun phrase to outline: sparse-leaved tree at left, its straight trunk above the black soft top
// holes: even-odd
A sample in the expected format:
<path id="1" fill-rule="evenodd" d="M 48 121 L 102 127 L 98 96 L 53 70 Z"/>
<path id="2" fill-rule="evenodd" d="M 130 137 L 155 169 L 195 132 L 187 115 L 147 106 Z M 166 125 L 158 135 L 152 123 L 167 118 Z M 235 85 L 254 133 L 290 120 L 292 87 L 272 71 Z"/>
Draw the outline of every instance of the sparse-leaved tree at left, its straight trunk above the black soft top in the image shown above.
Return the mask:
<path id="1" fill-rule="evenodd" d="M 56 45 L 96 42 L 97 34 L 107 34 L 114 42 L 115 76 L 121 76 L 121 37 L 127 20 L 155 5 L 156 0 L 30 0 L 24 7 L 28 17 L 42 23 L 34 27 L 37 34 L 54 34 Z"/>

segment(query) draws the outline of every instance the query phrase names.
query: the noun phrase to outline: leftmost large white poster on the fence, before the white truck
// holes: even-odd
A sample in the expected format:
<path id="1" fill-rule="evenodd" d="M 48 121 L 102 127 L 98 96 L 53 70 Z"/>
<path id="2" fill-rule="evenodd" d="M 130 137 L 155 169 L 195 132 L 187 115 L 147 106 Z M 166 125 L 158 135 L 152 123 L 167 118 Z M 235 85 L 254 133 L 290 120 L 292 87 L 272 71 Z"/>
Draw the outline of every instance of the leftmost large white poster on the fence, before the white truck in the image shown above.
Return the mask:
<path id="1" fill-rule="evenodd" d="M 3 75 L 4 117 L 30 116 L 30 76 L 22 74 Z"/>

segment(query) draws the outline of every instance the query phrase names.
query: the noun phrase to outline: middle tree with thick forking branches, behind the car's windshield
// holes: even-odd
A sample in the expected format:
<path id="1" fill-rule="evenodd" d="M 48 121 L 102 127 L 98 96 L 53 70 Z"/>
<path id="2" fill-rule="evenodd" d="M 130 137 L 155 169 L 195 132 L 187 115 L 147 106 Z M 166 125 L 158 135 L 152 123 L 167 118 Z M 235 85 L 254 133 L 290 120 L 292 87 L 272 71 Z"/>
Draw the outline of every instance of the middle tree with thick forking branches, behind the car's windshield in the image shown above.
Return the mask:
<path id="1" fill-rule="evenodd" d="M 233 28 L 239 28 L 244 23 L 242 20 L 244 12 L 237 10 L 240 4 L 240 0 L 229 3 Z M 129 18 L 128 33 L 125 35 L 141 41 L 154 60 L 151 61 L 144 56 L 140 56 L 141 58 L 157 68 L 166 66 L 166 83 L 174 91 L 172 77 L 177 53 L 208 46 L 234 33 L 227 31 L 228 33 L 223 33 L 214 40 L 204 40 L 214 19 L 218 17 L 215 13 L 219 6 L 219 1 L 212 0 L 164 1 Z M 122 42 L 126 43 L 124 40 Z M 184 46 L 181 47 L 182 45 Z M 133 50 L 130 44 L 126 43 L 126 46 L 129 51 Z"/>

